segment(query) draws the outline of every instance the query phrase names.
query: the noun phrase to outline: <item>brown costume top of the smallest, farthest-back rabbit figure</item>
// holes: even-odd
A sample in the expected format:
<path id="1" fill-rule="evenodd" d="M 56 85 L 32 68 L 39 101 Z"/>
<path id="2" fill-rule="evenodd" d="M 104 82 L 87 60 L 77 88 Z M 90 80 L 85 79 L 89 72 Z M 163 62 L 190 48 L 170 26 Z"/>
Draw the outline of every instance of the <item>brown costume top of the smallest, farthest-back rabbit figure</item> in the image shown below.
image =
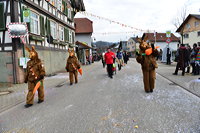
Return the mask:
<path id="1" fill-rule="evenodd" d="M 74 72 L 80 68 L 80 64 L 76 56 L 69 56 L 69 58 L 67 59 L 67 64 L 65 68 L 67 72 Z"/>

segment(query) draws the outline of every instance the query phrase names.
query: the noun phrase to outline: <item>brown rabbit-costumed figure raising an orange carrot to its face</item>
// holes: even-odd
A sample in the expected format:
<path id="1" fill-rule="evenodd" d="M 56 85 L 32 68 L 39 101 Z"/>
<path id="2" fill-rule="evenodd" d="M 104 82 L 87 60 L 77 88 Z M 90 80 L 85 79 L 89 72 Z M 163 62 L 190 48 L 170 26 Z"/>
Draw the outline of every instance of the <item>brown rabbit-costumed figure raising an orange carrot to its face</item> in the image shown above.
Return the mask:
<path id="1" fill-rule="evenodd" d="M 137 54 L 137 62 L 142 66 L 144 90 L 146 93 L 153 92 L 155 87 L 156 72 L 155 68 L 158 68 L 156 58 L 158 56 L 158 50 L 154 48 L 154 44 L 149 44 L 146 39 L 138 39 L 140 43 L 140 51 Z"/>

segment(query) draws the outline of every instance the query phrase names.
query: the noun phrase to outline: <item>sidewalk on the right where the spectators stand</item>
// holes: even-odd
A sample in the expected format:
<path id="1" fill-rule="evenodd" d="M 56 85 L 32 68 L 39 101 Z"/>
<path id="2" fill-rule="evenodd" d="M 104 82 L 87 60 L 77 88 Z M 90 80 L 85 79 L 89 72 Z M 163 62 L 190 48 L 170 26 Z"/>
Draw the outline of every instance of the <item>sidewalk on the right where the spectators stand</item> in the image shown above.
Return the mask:
<path id="1" fill-rule="evenodd" d="M 182 88 L 186 89 L 187 91 L 193 93 L 194 95 L 200 97 L 200 80 L 198 78 L 200 75 L 191 75 L 185 73 L 185 76 L 182 76 L 182 71 L 178 71 L 178 75 L 172 75 L 176 68 L 176 62 L 173 62 L 171 65 L 166 65 L 165 63 L 158 62 L 158 69 L 156 72 L 167 78 L 168 80 L 172 81 L 173 84 L 170 85 L 178 85 Z M 191 71 L 191 69 L 190 69 Z"/>

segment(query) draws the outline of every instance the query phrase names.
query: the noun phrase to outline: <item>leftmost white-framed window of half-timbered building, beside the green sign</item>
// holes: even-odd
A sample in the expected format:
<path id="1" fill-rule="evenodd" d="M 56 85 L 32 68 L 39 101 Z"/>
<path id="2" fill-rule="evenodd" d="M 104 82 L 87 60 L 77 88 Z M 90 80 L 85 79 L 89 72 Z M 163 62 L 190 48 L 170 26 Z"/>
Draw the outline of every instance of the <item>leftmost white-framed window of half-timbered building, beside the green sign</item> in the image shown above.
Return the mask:
<path id="1" fill-rule="evenodd" d="M 39 31 L 39 15 L 31 11 L 30 32 L 40 34 Z"/>

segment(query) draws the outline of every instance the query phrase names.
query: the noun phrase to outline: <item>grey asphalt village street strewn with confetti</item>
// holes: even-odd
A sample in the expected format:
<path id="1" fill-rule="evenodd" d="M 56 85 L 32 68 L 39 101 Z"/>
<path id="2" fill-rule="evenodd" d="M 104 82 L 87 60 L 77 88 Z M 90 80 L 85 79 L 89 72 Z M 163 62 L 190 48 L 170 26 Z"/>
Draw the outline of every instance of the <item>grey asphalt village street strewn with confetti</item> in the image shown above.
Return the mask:
<path id="1" fill-rule="evenodd" d="M 145 93 L 135 59 L 113 79 L 101 62 L 83 70 L 78 84 L 45 89 L 44 103 L 36 96 L 30 108 L 23 102 L 0 113 L 0 133 L 200 132 L 200 98 L 159 74 L 154 92 Z"/>

